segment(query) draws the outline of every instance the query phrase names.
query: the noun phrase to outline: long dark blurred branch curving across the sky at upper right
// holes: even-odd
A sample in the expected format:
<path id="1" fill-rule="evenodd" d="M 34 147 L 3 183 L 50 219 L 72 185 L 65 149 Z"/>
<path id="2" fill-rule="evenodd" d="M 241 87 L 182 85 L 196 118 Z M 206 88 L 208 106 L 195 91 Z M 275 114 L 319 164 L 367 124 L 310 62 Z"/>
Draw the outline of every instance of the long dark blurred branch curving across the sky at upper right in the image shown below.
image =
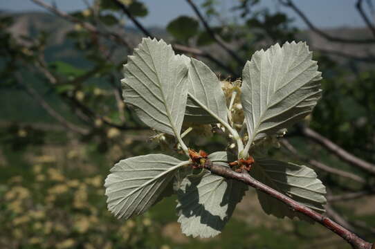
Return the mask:
<path id="1" fill-rule="evenodd" d="M 316 26 L 313 25 L 313 23 L 307 18 L 306 15 L 304 15 L 304 12 L 300 10 L 293 1 L 291 0 L 279 0 L 282 5 L 291 8 L 294 10 L 297 15 L 301 17 L 301 19 L 304 21 L 304 23 L 311 29 L 313 32 L 317 33 L 321 37 L 324 37 L 324 39 L 329 40 L 330 42 L 340 42 L 340 43 L 346 43 L 346 44 L 373 44 L 375 43 L 375 39 L 345 39 L 340 37 L 333 37 L 329 35 L 328 33 L 325 33 L 324 31 L 320 30 Z"/>

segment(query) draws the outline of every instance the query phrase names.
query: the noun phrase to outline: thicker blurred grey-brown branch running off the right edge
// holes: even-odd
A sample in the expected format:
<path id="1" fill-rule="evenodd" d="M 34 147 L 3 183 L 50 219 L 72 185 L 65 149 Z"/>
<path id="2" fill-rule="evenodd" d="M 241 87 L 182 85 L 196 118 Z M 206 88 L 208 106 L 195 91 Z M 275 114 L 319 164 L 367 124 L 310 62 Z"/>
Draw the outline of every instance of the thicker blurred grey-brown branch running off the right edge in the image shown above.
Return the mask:
<path id="1" fill-rule="evenodd" d="M 351 165 L 355 167 L 359 167 L 360 169 L 363 169 L 371 174 L 375 175 L 375 165 L 372 163 L 368 163 L 365 160 L 362 160 L 353 154 L 350 154 L 345 149 L 342 149 L 335 143 L 333 143 L 328 138 L 324 138 L 324 136 L 320 135 L 319 133 L 313 131 L 309 127 L 300 127 L 300 132 L 303 136 L 306 138 L 309 138 L 310 140 L 313 140 L 314 142 L 317 142 L 318 144 L 322 145 L 329 151 L 331 151 L 333 154 L 338 156 L 338 158 L 344 160 L 347 163 L 350 163 Z"/>

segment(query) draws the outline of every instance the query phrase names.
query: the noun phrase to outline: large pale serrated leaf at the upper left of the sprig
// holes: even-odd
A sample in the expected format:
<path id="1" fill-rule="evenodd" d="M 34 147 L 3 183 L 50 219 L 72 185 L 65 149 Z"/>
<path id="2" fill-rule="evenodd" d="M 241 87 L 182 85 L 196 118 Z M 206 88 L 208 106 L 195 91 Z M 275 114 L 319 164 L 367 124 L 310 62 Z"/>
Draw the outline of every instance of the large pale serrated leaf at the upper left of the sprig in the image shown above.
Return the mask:
<path id="1" fill-rule="evenodd" d="M 161 39 L 144 38 L 121 80 L 125 102 L 149 127 L 179 137 L 187 100 L 187 65 Z"/>

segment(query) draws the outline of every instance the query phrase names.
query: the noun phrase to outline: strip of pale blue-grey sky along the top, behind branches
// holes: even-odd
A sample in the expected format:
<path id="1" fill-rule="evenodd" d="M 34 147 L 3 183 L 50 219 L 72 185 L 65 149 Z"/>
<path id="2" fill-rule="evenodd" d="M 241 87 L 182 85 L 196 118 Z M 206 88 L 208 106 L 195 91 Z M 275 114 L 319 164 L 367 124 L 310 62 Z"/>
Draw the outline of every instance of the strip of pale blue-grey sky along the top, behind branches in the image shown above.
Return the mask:
<path id="1" fill-rule="evenodd" d="M 82 10 L 86 8 L 84 0 L 44 0 L 48 3 L 54 2 L 58 8 L 64 11 Z M 109 0 L 108 0 L 109 1 Z M 220 3 L 219 10 L 225 17 L 231 17 L 230 8 L 238 3 L 239 0 L 217 0 Z M 372 0 L 368 0 L 372 1 Z M 195 0 L 197 4 L 203 0 Z M 194 12 L 187 5 L 185 0 L 143 0 L 149 9 L 147 17 L 140 18 L 145 26 L 166 26 L 169 21 L 180 15 L 189 15 L 194 17 Z M 315 26 L 320 28 L 331 28 L 340 26 L 360 27 L 365 26 L 358 11 L 355 8 L 354 0 L 295 0 L 298 6 L 313 21 Z M 374 20 L 374 14 L 369 7 L 364 4 L 369 17 Z M 277 3 L 277 0 L 262 0 L 257 9 L 268 7 L 271 11 L 281 10 L 286 12 L 289 17 L 295 19 L 295 26 L 306 28 L 304 22 L 289 8 L 284 8 Z M 0 10 L 10 11 L 30 11 L 43 10 L 30 0 L 0 0 Z"/>

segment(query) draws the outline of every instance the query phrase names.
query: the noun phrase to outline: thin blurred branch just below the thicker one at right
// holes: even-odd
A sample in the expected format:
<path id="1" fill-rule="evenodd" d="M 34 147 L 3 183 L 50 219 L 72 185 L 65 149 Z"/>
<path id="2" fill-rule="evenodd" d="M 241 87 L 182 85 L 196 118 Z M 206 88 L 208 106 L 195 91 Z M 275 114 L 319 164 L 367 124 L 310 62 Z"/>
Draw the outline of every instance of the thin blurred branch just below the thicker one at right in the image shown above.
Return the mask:
<path id="1" fill-rule="evenodd" d="M 302 160 L 305 163 L 308 163 L 309 165 L 313 165 L 314 167 L 316 167 L 318 169 L 321 169 L 324 172 L 329 172 L 331 174 L 336 174 L 336 175 L 341 176 L 341 177 L 349 178 L 349 179 L 351 179 L 353 181 L 356 181 L 358 183 L 366 183 L 364 178 L 362 178 L 360 176 L 357 176 L 356 174 L 352 174 L 350 172 L 345 172 L 341 169 L 329 167 L 327 165 L 324 165 L 323 163 L 318 162 L 317 160 L 313 160 L 313 159 L 305 158 L 304 156 L 300 156 L 297 149 L 295 149 L 295 147 L 293 147 L 293 145 L 291 145 L 291 143 L 288 140 L 286 140 L 285 138 L 280 139 L 280 143 L 282 145 L 284 145 L 284 147 L 286 149 L 288 149 L 291 152 L 291 154 L 293 154 L 293 156 L 295 156 L 299 160 Z"/>

